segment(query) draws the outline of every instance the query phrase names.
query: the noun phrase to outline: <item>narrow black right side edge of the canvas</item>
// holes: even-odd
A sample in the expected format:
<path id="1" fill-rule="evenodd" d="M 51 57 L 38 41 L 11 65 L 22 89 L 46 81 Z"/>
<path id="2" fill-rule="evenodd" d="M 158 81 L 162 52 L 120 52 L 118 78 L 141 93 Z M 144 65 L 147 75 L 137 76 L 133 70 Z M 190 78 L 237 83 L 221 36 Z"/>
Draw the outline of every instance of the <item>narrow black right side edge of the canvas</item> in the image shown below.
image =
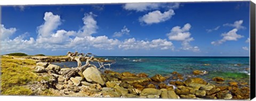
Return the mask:
<path id="1" fill-rule="evenodd" d="M 250 1 L 250 99 L 255 97 L 255 4 Z"/>

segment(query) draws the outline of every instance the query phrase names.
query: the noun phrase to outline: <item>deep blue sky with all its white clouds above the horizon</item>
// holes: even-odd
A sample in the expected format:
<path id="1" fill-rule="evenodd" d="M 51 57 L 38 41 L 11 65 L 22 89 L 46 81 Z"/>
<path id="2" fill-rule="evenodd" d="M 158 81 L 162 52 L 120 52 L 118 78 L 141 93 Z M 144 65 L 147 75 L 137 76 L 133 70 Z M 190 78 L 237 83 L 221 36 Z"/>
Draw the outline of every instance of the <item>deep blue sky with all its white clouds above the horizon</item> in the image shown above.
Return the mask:
<path id="1" fill-rule="evenodd" d="M 1 54 L 249 56 L 249 2 L 2 6 Z"/>

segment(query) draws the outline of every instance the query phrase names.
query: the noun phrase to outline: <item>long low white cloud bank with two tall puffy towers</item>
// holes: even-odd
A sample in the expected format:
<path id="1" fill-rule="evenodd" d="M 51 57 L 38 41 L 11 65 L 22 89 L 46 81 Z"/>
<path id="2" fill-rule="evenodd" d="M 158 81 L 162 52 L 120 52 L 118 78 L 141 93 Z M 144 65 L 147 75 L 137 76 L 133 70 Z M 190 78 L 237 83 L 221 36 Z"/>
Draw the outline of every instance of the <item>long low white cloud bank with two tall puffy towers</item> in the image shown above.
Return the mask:
<path id="1" fill-rule="evenodd" d="M 32 51 L 35 49 L 51 49 L 52 51 L 61 49 L 77 49 L 83 51 L 84 49 L 174 49 L 171 41 L 166 39 L 153 40 L 136 40 L 135 38 L 125 39 L 124 41 L 118 39 L 111 39 L 107 36 L 92 36 L 97 32 L 97 21 L 94 19 L 93 13 L 86 13 L 84 15 L 84 26 L 77 31 L 67 31 L 60 29 L 61 19 L 59 15 L 54 15 L 52 12 L 45 12 L 44 22 L 37 27 L 37 38 L 25 39 L 25 36 L 18 36 L 14 39 L 1 40 L 1 51 L 3 52 L 20 52 Z M 15 28 L 4 28 L 2 25 L 1 34 L 8 33 L 11 36 L 15 32 Z M 6 31 L 7 30 L 7 31 Z M 12 30 L 12 31 L 10 31 Z M 122 35 L 128 35 L 130 32 L 126 26 L 120 32 Z M 1 35 L 2 36 L 2 35 Z M 9 37 L 7 36 L 7 37 Z"/>

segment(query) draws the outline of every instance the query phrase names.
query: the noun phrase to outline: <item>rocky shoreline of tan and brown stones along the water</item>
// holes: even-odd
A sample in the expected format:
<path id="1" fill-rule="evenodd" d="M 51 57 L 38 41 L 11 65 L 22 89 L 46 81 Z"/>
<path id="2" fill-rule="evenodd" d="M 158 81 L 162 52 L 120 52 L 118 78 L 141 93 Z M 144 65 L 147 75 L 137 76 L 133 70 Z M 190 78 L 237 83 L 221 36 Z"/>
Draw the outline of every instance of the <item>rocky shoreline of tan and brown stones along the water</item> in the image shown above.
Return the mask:
<path id="1" fill-rule="evenodd" d="M 33 58 L 31 58 L 33 59 Z M 133 74 L 114 71 L 100 71 L 89 67 L 70 79 L 61 74 L 70 68 L 45 61 L 37 61 L 35 72 L 48 81 L 34 82 L 28 86 L 37 96 L 49 90 L 53 96 L 72 97 L 124 97 L 124 98 L 169 98 L 169 99 L 249 99 L 250 86 L 246 83 L 228 82 L 226 86 L 214 85 L 202 78 L 184 77 L 173 72 L 169 77 L 156 74 L 148 77 L 146 73 Z M 191 74 L 203 75 L 205 71 Z M 187 78 L 186 80 L 184 78 Z M 166 80 L 171 79 L 170 82 Z M 215 77 L 213 82 L 223 83 L 223 78 Z"/>

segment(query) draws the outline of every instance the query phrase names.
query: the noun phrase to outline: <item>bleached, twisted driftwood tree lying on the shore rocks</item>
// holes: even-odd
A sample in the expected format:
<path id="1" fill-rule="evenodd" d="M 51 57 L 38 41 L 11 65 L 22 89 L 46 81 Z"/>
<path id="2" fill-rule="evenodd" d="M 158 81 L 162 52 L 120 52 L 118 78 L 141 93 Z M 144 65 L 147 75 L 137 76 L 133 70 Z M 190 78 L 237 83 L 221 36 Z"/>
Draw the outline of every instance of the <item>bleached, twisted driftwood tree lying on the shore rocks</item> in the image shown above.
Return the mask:
<path id="1" fill-rule="evenodd" d="M 94 68 L 97 68 L 97 66 L 90 64 L 90 62 L 98 62 L 100 65 L 99 69 L 101 69 L 102 67 L 103 69 L 105 69 L 104 65 L 109 65 L 109 68 L 110 68 L 110 65 L 113 64 L 113 63 L 103 64 L 103 62 L 99 61 L 97 58 L 94 58 L 95 55 L 93 55 L 92 53 L 84 54 L 84 53 L 78 53 L 78 52 L 75 52 L 75 53 L 68 52 L 67 56 L 70 57 L 71 60 L 75 60 L 77 62 L 76 68 L 71 68 L 69 70 L 62 72 L 62 75 L 64 75 L 67 80 L 75 74 L 79 74 L 81 77 L 84 77 L 82 72 L 88 67 L 92 66 Z M 82 65 L 82 62 L 81 62 L 82 58 L 86 60 L 84 65 Z"/>

